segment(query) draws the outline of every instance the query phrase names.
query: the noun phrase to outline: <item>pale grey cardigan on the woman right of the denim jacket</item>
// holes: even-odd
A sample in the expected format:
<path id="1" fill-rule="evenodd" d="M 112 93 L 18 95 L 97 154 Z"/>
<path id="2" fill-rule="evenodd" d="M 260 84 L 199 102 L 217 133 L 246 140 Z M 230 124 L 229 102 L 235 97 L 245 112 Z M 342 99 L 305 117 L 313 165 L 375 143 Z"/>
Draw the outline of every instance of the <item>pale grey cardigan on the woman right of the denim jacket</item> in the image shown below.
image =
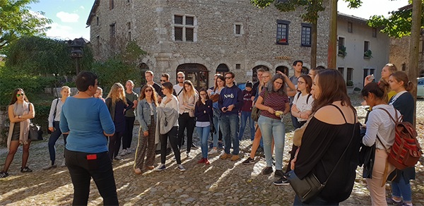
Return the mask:
<path id="1" fill-rule="evenodd" d="M 178 121 L 178 111 L 167 107 L 157 107 L 155 144 L 159 143 L 159 135 L 169 132 Z"/>

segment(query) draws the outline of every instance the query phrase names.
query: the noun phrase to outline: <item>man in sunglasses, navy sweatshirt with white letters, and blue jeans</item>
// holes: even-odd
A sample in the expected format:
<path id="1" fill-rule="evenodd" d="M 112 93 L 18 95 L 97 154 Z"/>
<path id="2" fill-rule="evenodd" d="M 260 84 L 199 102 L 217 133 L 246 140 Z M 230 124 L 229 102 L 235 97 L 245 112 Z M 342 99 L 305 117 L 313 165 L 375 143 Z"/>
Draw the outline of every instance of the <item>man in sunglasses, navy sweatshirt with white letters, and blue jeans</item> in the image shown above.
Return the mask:
<path id="1" fill-rule="evenodd" d="M 218 108 L 222 111 L 219 118 L 219 126 L 223 131 L 224 137 L 224 154 L 220 156 L 220 159 L 231 158 L 231 161 L 240 159 L 239 156 L 239 144 L 240 141 L 237 137 L 238 131 L 238 111 L 243 107 L 243 95 L 234 82 L 235 74 L 231 71 L 225 73 L 225 84 L 226 86 L 221 90 L 218 99 Z M 230 148 L 232 143 L 232 154 L 230 154 Z"/>

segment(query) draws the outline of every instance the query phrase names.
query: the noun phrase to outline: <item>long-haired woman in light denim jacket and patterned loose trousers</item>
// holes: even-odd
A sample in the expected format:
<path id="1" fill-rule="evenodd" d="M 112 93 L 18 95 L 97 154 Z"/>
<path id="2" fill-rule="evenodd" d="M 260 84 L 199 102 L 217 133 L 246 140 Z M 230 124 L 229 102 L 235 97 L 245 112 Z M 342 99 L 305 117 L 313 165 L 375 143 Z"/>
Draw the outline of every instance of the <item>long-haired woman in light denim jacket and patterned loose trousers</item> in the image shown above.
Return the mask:
<path id="1" fill-rule="evenodd" d="M 155 168 L 153 165 L 155 163 L 156 107 L 158 107 L 156 97 L 155 89 L 151 85 L 144 85 L 141 88 L 136 115 L 140 123 L 139 145 L 137 146 L 134 161 L 134 171 L 136 174 L 141 174 L 145 157 L 146 169 Z"/>

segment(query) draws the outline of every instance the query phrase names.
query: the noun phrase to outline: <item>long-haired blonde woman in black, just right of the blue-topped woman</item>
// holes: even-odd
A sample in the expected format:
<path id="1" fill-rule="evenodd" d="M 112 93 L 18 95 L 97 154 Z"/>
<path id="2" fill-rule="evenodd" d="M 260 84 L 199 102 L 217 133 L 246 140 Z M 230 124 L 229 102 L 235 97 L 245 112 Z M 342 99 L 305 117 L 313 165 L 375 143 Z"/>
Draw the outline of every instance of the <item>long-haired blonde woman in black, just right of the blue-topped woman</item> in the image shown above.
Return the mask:
<path id="1" fill-rule="evenodd" d="M 114 83 L 107 95 L 106 105 L 115 126 L 115 133 L 109 141 L 110 159 L 121 161 L 118 151 L 125 132 L 125 112 L 131 109 L 134 103 L 125 97 L 124 86 L 121 83 Z"/>

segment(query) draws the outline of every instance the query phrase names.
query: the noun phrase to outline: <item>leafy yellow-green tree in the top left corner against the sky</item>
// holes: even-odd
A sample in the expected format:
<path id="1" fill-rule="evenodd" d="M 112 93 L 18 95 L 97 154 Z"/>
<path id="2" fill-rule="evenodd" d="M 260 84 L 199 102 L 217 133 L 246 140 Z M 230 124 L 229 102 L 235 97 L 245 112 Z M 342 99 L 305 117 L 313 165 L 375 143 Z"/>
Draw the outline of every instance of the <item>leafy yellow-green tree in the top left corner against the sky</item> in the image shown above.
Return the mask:
<path id="1" fill-rule="evenodd" d="M 45 35 L 52 20 L 34 13 L 28 4 L 38 0 L 0 0 L 0 50 L 19 37 Z"/>

